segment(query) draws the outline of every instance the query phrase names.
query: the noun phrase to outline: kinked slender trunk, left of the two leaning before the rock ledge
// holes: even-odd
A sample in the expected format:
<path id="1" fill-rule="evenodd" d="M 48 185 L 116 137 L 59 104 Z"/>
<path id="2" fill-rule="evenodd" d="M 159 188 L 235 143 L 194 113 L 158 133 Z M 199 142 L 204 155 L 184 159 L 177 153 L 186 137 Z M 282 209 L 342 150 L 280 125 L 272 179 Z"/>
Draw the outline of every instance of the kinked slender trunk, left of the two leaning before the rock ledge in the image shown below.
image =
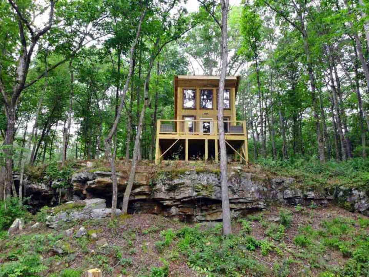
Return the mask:
<path id="1" fill-rule="evenodd" d="M 122 91 L 122 98 L 121 98 L 120 106 L 118 108 L 118 113 L 117 113 L 117 116 L 115 117 L 114 124 L 111 127 L 111 130 L 108 136 L 104 140 L 105 153 L 107 155 L 108 161 L 110 161 L 111 179 L 113 183 L 112 185 L 113 195 L 112 195 L 112 200 L 111 200 L 111 218 L 115 218 L 117 216 L 117 198 L 118 198 L 118 180 L 117 180 L 117 172 L 115 171 L 114 158 L 111 155 L 111 138 L 113 138 L 114 133 L 117 131 L 118 123 L 120 121 L 120 117 L 121 117 L 121 113 L 122 113 L 122 109 L 124 105 L 124 100 L 125 100 L 125 95 L 127 93 L 128 85 L 129 85 L 129 82 L 132 76 L 132 71 L 133 71 L 133 54 L 134 54 L 134 51 L 135 51 L 135 48 L 138 42 L 138 38 L 141 32 L 142 21 L 144 20 L 146 10 L 147 10 L 147 7 L 145 7 L 144 11 L 142 11 L 141 18 L 139 20 L 138 27 L 137 27 L 136 38 L 130 50 L 130 67 L 129 67 L 127 79 L 125 81 L 125 85 Z"/>

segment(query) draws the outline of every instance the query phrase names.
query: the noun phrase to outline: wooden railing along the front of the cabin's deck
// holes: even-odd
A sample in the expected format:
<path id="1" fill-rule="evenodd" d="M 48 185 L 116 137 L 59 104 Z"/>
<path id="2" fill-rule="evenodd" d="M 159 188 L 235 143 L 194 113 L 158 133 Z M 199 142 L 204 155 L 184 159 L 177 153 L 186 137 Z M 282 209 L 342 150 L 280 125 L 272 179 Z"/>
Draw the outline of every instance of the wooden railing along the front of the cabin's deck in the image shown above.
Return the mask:
<path id="1" fill-rule="evenodd" d="M 157 122 L 159 134 L 177 135 L 217 135 L 218 121 L 212 119 L 200 120 L 176 120 L 159 119 Z M 246 121 L 227 120 L 224 121 L 224 129 L 227 135 L 246 136 Z"/>

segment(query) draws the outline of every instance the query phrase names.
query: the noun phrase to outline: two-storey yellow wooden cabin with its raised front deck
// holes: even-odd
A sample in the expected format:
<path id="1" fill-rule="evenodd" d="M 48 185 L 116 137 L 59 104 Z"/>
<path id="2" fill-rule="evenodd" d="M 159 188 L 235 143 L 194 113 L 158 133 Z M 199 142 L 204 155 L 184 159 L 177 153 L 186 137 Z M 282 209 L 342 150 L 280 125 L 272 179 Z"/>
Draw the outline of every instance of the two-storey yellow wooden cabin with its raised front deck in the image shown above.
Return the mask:
<path id="1" fill-rule="evenodd" d="M 224 131 L 228 160 L 248 162 L 246 122 L 236 120 L 240 77 L 228 76 L 224 90 Z M 219 158 L 217 122 L 219 76 L 174 77 L 174 119 L 159 119 L 155 163 Z"/>

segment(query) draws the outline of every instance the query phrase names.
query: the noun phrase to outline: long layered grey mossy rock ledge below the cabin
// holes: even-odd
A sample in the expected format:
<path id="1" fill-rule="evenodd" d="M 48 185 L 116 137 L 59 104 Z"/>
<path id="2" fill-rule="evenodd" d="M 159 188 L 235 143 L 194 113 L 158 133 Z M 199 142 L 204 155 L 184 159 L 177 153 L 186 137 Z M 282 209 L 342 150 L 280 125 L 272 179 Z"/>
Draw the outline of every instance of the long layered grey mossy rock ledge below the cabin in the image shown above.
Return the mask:
<path id="1" fill-rule="evenodd" d="M 118 208 L 127 181 L 128 174 L 118 172 Z M 30 205 L 41 207 L 57 203 L 58 191 L 52 189 L 52 181 L 45 182 L 26 181 L 25 196 L 30 197 Z M 70 183 L 73 191 L 63 192 L 65 200 L 101 198 L 106 200 L 107 207 L 111 206 L 111 172 L 76 172 Z M 269 178 L 242 172 L 242 168 L 235 168 L 228 174 L 228 187 L 234 217 L 277 203 L 310 205 L 312 201 L 316 205 L 334 201 L 350 211 L 369 215 L 368 192 L 359 189 L 301 189 L 294 178 Z M 177 170 L 154 175 L 138 172 L 128 212 L 162 214 L 185 221 L 221 220 L 219 172 Z"/>

